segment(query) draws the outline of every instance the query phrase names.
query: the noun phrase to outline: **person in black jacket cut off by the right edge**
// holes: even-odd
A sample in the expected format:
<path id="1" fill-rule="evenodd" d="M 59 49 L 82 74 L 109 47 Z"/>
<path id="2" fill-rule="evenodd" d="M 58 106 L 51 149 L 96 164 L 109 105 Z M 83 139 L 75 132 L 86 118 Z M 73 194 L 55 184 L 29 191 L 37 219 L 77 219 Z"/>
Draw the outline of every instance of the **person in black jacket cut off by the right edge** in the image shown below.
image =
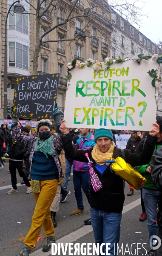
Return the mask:
<path id="1" fill-rule="evenodd" d="M 160 192 L 157 209 L 157 236 L 162 241 L 162 147 L 159 147 L 151 159 L 151 177 L 156 189 Z M 156 244 L 155 244 L 156 246 Z M 154 250 L 154 256 L 162 256 L 162 245 Z"/>

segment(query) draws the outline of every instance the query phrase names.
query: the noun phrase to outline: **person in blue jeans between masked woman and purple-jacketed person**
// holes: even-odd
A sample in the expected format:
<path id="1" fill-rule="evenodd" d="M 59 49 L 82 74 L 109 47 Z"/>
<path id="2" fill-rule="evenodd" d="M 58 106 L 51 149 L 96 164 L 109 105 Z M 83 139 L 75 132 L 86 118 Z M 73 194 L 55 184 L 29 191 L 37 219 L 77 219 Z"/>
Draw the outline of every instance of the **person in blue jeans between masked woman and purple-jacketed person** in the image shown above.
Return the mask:
<path id="1" fill-rule="evenodd" d="M 79 138 L 78 136 L 80 135 L 80 130 L 78 128 L 69 128 L 71 140 L 73 140 L 73 137 L 76 137 L 77 139 Z M 71 166 L 73 165 L 73 160 L 69 157 L 65 158 L 66 161 L 66 171 L 65 171 L 65 183 L 63 183 L 63 187 L 67 189 L 68 187 L 68 180 L 71 175 Z M 62 203 L 62 199 L 60 200 Z"/>

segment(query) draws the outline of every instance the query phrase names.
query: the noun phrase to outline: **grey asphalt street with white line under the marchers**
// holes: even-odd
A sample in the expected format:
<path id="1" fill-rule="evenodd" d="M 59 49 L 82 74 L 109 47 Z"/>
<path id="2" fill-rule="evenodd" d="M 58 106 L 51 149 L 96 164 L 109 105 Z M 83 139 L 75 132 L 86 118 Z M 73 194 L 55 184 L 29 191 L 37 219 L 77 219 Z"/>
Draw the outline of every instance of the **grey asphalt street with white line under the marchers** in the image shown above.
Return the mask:
<path id="1" fill-rule="evenodd" d="M 19 177 L 18 172 L 18 192 L 10 195 L 7 194 L 11 188 L 11 177 L 9 172 L 7 172 L 8 169 L 9 163 L 6 163 L 4 169 L 0 170 L 0 256 L 16 256 L 16 254 L 20 252 L 23 246 L 23 240 L 31 227 L 31 217 L 35 207 L 34 196 L 32 193 L 26 194 L 26 186 L 20 185 L 22 178 Z M 91 225 L 85 226 L 83 222 L 85 219 L 90 218 L 90 215 L 88 215 L 89 206 L 84 192 L 84 214 L 76 216 L 70 215 L 72 211 L 77 209 L 72 178 L 73 176 L 71 175 L 68 183 L 68 190 L 71 191 L 71 194 L 64 203 L 60 204 L 59 212 L 56 214 L 57 227 L 55 228 L 55 238 L 57 242 L 60 243 L 93 243 L 94 236 L 92 227 Z M 121 248 L 123 244 L 123 253 L 122 251 L 120 253 L 118 252 L 118 255 L 145 255 L 146 250 L 150 250 L 150 246 L 147 222 L 139 221 L 139 216 L 142 213 L 139 199 L 140 191 L 135 190 L 134 195 L 128 197 L 128 190 L 129 187 L 126 183 L 125 204 L 119 243 L 119 248 Z M 43 230 L 40 235 L 42 238 L 36 243 L 35 249 L 30 255 L 50 256 L 51 251 L 48 253 L 42 252 L 43 244 L 46 241 Z M 139 244 L 137 245 L 137 243 Z M 127 247 L 126 244 L 128 244 Z M 131 244 L 133 244 L 132 247 Z M 143 247 L 145 247 L 146 250 L 142 248 L 142 244 L 144 244 Z M 141 248 L 138 252 L 135 250 L 137 247 Z M 60 255 L 63 255 L 62 250 Z M 64 255 L 69 255 L 68 250 Z"/>

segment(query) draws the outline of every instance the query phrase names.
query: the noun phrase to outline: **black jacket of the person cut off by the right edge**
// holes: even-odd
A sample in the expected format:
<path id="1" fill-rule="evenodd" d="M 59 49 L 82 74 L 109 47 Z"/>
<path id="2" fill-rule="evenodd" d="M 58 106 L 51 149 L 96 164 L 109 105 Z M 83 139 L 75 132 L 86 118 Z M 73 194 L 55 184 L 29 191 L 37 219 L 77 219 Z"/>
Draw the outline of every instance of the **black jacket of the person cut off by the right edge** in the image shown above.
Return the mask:
<path id="1" fill-rule="evenodd" d="M 155 151 L 151 158 L 151 177 L 153 184 L 160 191 L 157 221 L 162 225 L 162 146 Z"/>

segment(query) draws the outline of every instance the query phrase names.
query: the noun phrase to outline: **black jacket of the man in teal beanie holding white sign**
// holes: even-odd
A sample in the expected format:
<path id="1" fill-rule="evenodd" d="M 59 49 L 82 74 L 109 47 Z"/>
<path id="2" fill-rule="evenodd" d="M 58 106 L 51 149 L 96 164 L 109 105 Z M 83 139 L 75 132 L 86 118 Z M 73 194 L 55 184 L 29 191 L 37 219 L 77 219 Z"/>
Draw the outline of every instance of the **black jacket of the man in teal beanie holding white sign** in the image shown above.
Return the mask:
<path id="1" fill-rule="evenodd" d="M 110 166 L 108 166 L 103 174 L 100 175 L 95 168 L 95 162 L 91 156 L 93 148 L 89 150 L 75 150 L 71 143 L 70 134 L 65 134 L 61 136 L 61 138 L 63 141 L 63 148 L 68 157 L 71 157 L 73 160 L 80 162 L 88 162 L 88 159 L 85 157 L 85 153 L 88 153 L 90 160 L 93 161 L 92 166 L 102 183 L 102 189 L 98 192 L 95 192 L 92 185 L 90 186 L 91 207 L 104 210 L 105 212 L 121 212 L 125 200 L 122 178 L 120 178 L 114 172 L 112 173 Z M 156 136 L 148 135 L 141 154 L 134 154 L 129 152 L 127 149 L 124 149 L 126 162 L 131 166 L 141 166 L 149 163 L 153 154 L 156 140 Z M 115 159 L 117 157 L 122 157 L 122 152 L 121 149 L 115 147 L 113 158 Z"/>

